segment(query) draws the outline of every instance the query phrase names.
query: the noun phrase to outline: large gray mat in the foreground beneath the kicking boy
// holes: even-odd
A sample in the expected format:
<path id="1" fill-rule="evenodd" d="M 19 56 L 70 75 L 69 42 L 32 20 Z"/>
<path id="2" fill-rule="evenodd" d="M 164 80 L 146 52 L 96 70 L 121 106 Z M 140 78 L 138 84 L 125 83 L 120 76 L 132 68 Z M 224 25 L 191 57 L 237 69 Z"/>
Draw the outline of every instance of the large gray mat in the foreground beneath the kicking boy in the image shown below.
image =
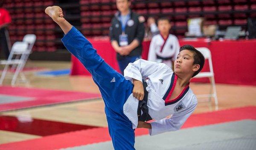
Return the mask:
<path id="1" fill-rule="evenodd" d="M 256 150 L 256 121 L 243 120 L 136 137 L 137 150 Z M 63 150 L 113 150 L 111 141 Z"/>

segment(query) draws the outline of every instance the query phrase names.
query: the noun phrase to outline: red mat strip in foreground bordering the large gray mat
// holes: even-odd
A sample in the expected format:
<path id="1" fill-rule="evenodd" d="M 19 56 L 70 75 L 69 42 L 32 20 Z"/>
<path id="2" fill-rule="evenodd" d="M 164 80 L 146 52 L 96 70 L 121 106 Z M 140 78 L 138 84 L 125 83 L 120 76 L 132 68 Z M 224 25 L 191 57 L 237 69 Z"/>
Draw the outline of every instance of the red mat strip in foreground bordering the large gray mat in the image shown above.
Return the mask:
<path id="1" fill-rule="evenodd" d="M 195 114 L 189 117 L 182 128 L 198 127 L 244 119 L 256 119 L 256 107 L 242 107 L 210 113 Z M 145 134 L 148 134 L 148 130 L 136 130 L 136 136 Z M 29 150 L 31 147 L 35 147 L 37 150 L 55 150 L 110 140 L 111 138 L 108 134 L 108 128 L 93 128 L 53 136 L 45 136 L 43 138 L 28 141 L 1 144 L 0 150 L 15 150 L 17 147 L 19 150 Z"/>

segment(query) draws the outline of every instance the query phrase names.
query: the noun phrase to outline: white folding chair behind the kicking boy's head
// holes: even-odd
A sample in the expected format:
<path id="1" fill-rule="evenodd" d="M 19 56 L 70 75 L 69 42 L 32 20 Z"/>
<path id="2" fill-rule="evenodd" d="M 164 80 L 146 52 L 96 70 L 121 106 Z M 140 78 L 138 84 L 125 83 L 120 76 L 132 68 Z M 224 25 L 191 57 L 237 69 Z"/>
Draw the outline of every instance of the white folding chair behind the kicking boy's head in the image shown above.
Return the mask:
<path id="1" fill-rule="evenodd" d="M 217 92 L 216 92 L 216 86 L 215 86 L 215 80 L 214 80 L 214 73 L 213 73 L 213 68 L 212 68 L 212 56 L 211 52 L 208 48 L 206 47 L 198 47 L 196 48 L 198 51 L 200 51 L 203 55 L 204 58 L 209 62 L 209 72 L 199 72 L 198 75 L 196 75 L 194 78 L 209 78 L 210 83 L 211 83 L 211 89 L 209 94 L 204 94 L 204 95 L 197 95 L 198 98 L 205 98 L 208 97 L 209 101 L 211 101 L 211 98 L 214 98 L 215 101 L 215 106 L 218 106 L 218 98 L 217 98 Z M 213 90 L 213 91 L 212 91 Z"/>

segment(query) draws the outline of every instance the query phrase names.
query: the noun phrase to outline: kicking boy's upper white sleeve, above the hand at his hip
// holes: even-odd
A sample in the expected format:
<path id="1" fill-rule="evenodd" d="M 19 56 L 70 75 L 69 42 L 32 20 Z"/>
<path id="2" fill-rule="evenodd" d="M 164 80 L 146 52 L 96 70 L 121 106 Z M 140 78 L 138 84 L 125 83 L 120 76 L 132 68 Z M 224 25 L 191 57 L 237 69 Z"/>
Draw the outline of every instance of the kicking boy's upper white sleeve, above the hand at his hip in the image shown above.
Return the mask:
<path id="1" fill-rule="evenodd" d="M 147 78 L 148 75 L 153 74 L 164 66 L 165 64 L 163 63 L 156 63 L 139 59 L 137 61 L 134 61 L 134 63 L 128 64 L 128 66 L 124 70 L 124 77 L 126 80 L 130 80 L 131 82 L 132 78 L 142 81 L 142 79 Z"/>

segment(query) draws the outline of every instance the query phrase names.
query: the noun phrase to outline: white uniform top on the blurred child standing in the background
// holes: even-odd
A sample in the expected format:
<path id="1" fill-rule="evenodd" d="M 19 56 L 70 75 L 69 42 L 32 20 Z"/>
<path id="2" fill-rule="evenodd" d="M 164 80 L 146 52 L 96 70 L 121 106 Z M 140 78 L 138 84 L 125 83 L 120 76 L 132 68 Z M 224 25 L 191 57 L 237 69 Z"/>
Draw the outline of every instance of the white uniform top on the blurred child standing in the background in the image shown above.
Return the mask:
<path id="1" fill-rule="evenodd" d="M 148 61 L 165 63 L 172 68 L 172 61 L 175 61 L 179 54 L 180 44 L 175 35 L 169 34 L 166 39 L 162 35 L 155 35 L 150 43 Z"/>

